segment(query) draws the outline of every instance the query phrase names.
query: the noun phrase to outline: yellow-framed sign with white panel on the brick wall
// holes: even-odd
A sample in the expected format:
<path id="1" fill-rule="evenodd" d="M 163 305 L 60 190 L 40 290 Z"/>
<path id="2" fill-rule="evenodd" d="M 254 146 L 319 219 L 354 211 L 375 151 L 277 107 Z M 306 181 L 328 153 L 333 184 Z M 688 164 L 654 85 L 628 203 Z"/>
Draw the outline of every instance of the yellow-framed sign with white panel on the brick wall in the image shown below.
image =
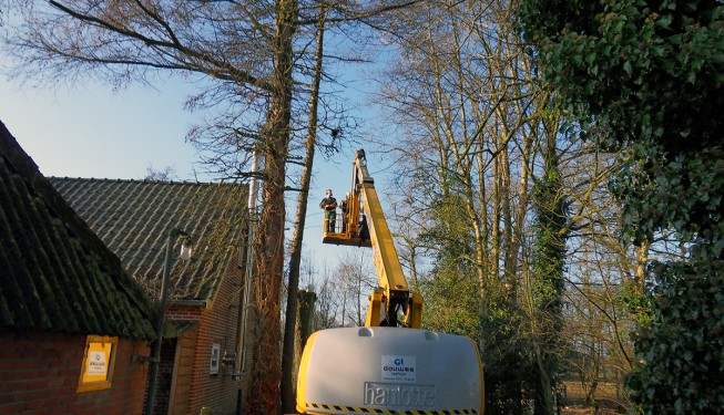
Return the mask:
<path id="1" fill-rule="evenodd" d="M 78 392 L 99 391 L 111 387 L 113 363 L 119 338 L 89 335 Z"/>

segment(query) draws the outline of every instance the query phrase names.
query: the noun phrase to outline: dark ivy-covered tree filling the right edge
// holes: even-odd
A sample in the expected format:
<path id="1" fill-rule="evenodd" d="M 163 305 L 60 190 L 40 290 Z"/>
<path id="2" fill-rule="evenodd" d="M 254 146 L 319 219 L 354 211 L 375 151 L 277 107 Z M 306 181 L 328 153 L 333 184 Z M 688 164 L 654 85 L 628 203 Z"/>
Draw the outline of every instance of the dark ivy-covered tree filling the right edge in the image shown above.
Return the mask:
<path id="1" fill-rule="evenodd" d="M 569 120 L 628 162 L 612 184 L 625 236 L 643 243 L 672 229 L 687 249 L 650 267 L 634 400 L 646 413 L 721 413 L 724 6 L 522 0 L 518 18 Z"/>

